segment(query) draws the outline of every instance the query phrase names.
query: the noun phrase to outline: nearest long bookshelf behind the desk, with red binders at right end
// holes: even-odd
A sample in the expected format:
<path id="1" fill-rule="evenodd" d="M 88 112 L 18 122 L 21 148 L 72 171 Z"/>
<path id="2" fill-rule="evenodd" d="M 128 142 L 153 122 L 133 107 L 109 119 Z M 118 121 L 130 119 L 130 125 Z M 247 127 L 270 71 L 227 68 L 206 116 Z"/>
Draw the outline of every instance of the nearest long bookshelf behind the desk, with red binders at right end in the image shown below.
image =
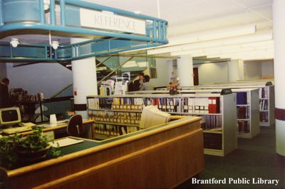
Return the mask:
<path id="1" fill-rule="evenodd" d="M 237 148 L 236 95 L 229 94 L 142 94 L 125 96 L 88 96 L 88 115 L 95 123 L 110 125 L 103 128 L 106 134 L 117 131 L 112 128 L 120 124 L 128 124 L 127 132 L 137 131 L 141 111 L 144 106 L 157 106 L 160 111 L 180 116 L 201 116 L 204 131 L 204 153 L 224 156 Z M 121 113 L 120 118 L 114 113 Z M 133 116 L 131 116 L 133 114 Z M 108 115 L 108 116 L 107 116 Z M 130 115 L 130 116 L 128 116 Z M 133 120 L 133 121 L 132 121 Z M 117 121 L 116 123 L 114 123 Z M 103 127 L 103 126 L 102 126 Z M 122 128 L 120 126 L 120 128 Z M 131 129 L 136 128 L 136 129 Z M 94 128 L 98 133 L 101 128 Z M 129 131 L 130 130 L 130 131 Z M 123 132 L 115 132 L 121 135 Z"/>

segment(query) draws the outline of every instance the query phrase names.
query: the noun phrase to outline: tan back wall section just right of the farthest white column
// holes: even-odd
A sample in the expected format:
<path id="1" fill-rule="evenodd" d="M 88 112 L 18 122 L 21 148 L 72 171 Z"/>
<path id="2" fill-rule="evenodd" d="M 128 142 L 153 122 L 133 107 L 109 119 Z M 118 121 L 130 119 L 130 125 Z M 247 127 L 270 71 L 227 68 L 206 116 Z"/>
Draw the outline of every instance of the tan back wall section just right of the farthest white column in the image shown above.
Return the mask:
<path id="1" fill-rule="evenodd" d="M 258 80 L 261 79 L 261 62 L 260 61 L 244 61 L 244 79 Z"/>

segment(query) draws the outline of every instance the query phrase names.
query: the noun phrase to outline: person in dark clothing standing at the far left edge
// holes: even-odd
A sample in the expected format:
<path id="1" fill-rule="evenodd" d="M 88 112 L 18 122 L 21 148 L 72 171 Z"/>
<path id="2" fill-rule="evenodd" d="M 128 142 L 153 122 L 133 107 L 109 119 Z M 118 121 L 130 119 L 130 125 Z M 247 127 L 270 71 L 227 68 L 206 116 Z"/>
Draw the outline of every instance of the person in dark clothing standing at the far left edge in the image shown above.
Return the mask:
<path id="1" fill-rule="evenodd" d="M 0 83 L 0 108 L 11 106 L 11 99 L 9 95 L 9 78 L 3 78 Z"/>

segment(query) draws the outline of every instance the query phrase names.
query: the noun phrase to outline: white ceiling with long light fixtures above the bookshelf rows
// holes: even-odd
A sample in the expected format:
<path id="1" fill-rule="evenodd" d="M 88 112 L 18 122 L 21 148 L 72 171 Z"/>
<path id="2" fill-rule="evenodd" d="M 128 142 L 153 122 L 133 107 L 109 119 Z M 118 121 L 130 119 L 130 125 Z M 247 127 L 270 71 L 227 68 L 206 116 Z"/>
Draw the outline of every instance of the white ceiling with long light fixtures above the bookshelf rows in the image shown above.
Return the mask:
<path id="1" fill-rule="evenodd" d="M 260 34 L 271 34 L 272 38 L 272 3 L 273 0 L 86 0 L 91 3 L 101 4 L 105 6 L 112 6 L 114 8 L 123 9 L 125 11 L 140 11 L 142 14 L 148 16 L 155 16 L 160 19 L 165 19 L 168 21 L 167 28 L 167 39 L 172 44 L 172 41 L 177 41 L 183 38 L 190 38 L 199 36 L 204 33 L 211 33 L 217 31 L 226 31 L 229 28 L 238 28 L 240 26 L 256 26 L 257 33 L 250 34 L 248 36 L 257 36 Z M 243 36 L 247 37 L 247 36 Z M 227 38 L 230 40 L 229 38 Z M 226 41 L 227 39 L 219 39 L 212 41 Z M 238 39 L 235 37 L 234 39 Z M 250 39 L 250 38 L 249 38 Z M 264 41 L 265 39 L 261 39 Z M 205 44 L 205 41 L 202 41 Z M 247 59 L 262 59 L 262 58 L 273 58 L 273 39 L 266 39 L 264 43 L 254 42 L 249 43 L 247 41 L 243 42 L 245 46 L 252 46 L 251 48 L 242 48 L 241 43 L 236 46 L 229 46 L 231 48 L 236 48 L 236 51 L 231 51 L 231 53 L 223 53 L 224 48 L 222 47 L 217 56 L 222 58 L 242 58 Z M 194 44 L 197 46 L 198 42 L 187 43 Z M 263 46 L 261 44 L 264 44 Z M 157 55 L 172 55 L 179 56 L 180 51 L 172 51 L 175 49 L 173 47 L 180 46 L 175 44 L 175 46 L 165 47 L 163 53 L 155 53 L 155 51 L 148 51 L 150 54 Z M 203 48 L 204 54 L 200 53 L 199 56 L 210 56 L 209 53 L 212 50 L 217 52 L 217 47 L 207 48 L 207 43 Z M 163 48 L 157 47 L 157 48 Z M 183 47 L 184 49 L 184 47 Z M 185 48 L 181 52 L 181 55 L 192 55 L 192 48 Z M 181 50 L 181 49 L 180 49 Z M 242 51 L 242 52 L 240 52 Z M 250 51 L 251 55 L 246 56 L 245 51 Z M 168 53 L 166 53 L 168 52 Z M 194 51 L 193 51 L 194 52 Z M 214 56 L 212 54 L 212 56 Z M 212 57 L 211 56 L 211 57 Z"/>

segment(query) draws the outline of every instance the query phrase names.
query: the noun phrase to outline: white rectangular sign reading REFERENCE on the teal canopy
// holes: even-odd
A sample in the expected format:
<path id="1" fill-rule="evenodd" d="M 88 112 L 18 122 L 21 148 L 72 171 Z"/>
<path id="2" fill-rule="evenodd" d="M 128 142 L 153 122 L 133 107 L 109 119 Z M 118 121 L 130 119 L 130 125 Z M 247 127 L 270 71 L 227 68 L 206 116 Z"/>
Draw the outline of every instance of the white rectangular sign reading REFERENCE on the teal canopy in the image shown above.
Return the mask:
<path id="1" fill-rule="evenodd" d="M 81 26 L 145 35 L 145 21 L 102 11 L 80 9 Z"/>

